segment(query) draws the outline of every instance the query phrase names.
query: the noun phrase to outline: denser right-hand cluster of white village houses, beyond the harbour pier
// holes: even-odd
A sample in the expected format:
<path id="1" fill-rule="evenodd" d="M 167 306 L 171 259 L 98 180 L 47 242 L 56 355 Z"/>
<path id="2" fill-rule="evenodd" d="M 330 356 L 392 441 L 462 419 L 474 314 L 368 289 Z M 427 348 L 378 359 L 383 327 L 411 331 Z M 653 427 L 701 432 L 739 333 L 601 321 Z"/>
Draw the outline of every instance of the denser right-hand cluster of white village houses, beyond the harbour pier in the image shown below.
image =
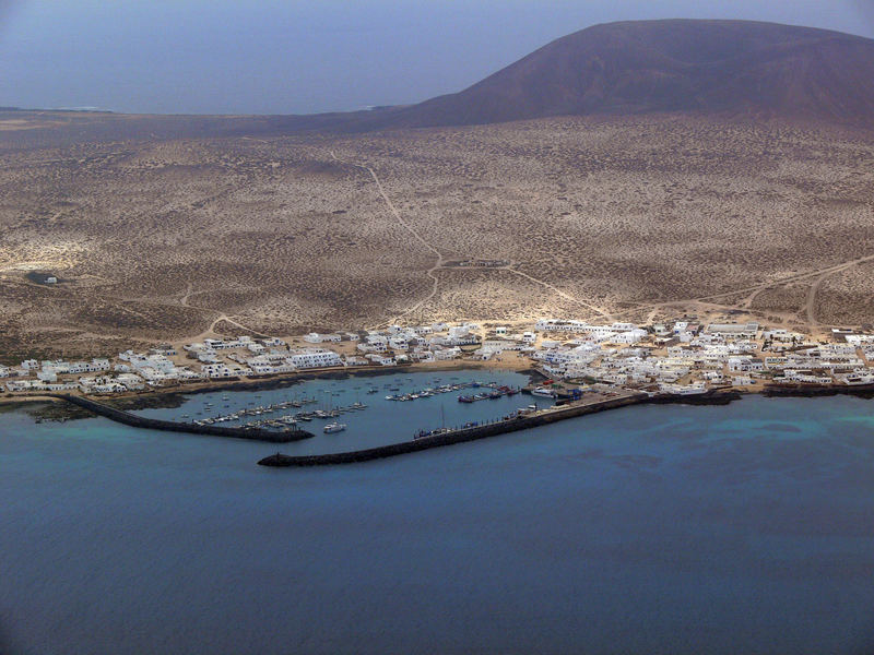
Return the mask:
<path id="1" fill-rule="evenodd" d="M 685 320 L 647 329 L 543 320 L 535 330 L 544 336 L 530 356 L 556 378 L 674 394 L 766 383 L 874 383 L 874 336 L 865 334 L 835 331 L 831 343 L 813 343 L 758 323 Z"/>

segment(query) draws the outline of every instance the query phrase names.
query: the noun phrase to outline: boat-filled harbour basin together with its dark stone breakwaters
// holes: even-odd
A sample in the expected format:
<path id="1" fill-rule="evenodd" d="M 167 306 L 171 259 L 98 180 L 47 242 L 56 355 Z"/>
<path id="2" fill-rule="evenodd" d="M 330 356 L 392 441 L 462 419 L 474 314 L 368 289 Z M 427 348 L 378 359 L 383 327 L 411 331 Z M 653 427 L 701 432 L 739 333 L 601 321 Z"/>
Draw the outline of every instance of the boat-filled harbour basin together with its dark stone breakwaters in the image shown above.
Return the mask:
<path id="1" fill-rule="evenodd" d="M 446 379 L 425 372 L 391 373 L 366 384 L 355 378 L 314 379 L 282 389 L 194 394 L 176 407 L 132 412 L 79 396 L 62 397 L 134 427 L 287 444 L 290 452 L 259 461 L 281 467 L 365 462 L 635 404 L 710 405 L 741 397 L 733 390 L 653 395 L 601 384 L 570 389 L 548 379 L 532 383 L 521 373 L 489 373 L 497 379 L 483 380 L 481 370 L 451 371 Z M 363 393 L 368 403 L 358 400 Z M 350 402 L 352 397 L 356 400 Z M 415 402 L 423 398 L 430 402 Z M 485 400 L 489 402 L 479 402 Z"/>

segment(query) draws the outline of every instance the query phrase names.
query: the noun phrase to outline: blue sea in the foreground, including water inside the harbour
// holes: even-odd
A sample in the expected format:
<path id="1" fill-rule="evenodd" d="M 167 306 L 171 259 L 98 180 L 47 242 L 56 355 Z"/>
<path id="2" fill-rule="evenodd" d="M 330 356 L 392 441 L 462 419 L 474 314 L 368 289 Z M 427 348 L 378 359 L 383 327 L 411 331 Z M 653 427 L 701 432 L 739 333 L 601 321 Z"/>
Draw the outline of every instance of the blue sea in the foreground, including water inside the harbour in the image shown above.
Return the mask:
<path id="1" fill-rule="evenodd" d="M 440 376 L 523 381 L 392 383 Z M 370 406 L 281 450 L 530 402 L 366 394 L 386 383 L 308 383 Z M 275 450 L 0 414 L 0 652 L 874 652 L 871 401 L 641 406 L 366 464 L 256 465 Z"/>

